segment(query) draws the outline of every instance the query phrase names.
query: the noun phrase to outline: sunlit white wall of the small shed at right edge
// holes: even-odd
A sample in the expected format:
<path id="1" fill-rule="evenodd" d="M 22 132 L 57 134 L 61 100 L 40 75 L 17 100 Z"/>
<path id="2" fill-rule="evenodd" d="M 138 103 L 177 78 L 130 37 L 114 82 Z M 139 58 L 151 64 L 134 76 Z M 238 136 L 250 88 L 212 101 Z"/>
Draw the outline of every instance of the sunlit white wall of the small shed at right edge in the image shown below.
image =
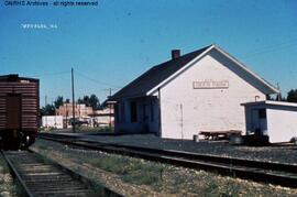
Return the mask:
<path id="1" fill-rule="evenodd" d="M 297 108 L 268 107 L 267 123 L 270 142 L 288 142 L 297 136 Z"/>

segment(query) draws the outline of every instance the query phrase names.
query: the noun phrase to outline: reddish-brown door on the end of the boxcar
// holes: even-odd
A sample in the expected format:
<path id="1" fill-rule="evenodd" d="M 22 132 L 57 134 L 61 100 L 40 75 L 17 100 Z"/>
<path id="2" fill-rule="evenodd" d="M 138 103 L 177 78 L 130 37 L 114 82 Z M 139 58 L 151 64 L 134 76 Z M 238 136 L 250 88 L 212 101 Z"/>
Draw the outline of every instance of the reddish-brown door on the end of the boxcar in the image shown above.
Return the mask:
<path id="1" fill-rule="evenodd" d="M 21 96 L 7 97 L 7 129 L 21 129 Z"/>

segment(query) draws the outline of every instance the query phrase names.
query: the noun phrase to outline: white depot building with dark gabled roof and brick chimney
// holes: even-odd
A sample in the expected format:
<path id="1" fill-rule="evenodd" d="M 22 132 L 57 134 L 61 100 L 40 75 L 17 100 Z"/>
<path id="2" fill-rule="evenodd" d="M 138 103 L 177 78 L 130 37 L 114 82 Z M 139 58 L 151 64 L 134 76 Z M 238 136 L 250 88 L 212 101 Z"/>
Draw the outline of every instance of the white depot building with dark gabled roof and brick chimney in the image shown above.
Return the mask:
<path id="1" fill-rule="evenodd" d="M 246 131 L 244 106 L 278 90 L 216 45 L 148 69 L 109 100 L 116 132 L 193 139 L 200 131 Z"/>

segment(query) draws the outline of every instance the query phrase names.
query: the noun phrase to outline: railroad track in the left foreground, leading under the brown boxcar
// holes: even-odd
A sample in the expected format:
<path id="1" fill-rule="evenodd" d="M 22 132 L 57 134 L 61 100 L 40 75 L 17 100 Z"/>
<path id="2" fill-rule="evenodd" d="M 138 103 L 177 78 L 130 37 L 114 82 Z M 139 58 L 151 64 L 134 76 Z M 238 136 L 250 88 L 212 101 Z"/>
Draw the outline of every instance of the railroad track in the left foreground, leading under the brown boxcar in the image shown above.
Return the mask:
<path id="1" fill-rule="evenodd" d="M 23 196 L 120 196 L 32 151 L 1 151 Z"/>

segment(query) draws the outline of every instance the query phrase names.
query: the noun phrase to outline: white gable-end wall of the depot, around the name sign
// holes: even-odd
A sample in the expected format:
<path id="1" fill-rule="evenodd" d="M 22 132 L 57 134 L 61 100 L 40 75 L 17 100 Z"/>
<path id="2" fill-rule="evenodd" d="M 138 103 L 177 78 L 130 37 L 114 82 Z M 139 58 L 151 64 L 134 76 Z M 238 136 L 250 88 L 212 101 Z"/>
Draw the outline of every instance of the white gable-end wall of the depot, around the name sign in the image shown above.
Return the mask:
<path id="1" fill-rule="evenodd" d="M 262 91 L 249 84 L 255 83 L 248 76 L 217 53 L 204 57 L 161 89 L 162 136 L 193 139 L 199 131 L 224 130 L 244 133 L 245 116 L 241 103 L 255 101 L 255 97 L 266 99 Z M 193 88 L 194 81 L 204 80 L 228 80 L 229 88 Z"/>

